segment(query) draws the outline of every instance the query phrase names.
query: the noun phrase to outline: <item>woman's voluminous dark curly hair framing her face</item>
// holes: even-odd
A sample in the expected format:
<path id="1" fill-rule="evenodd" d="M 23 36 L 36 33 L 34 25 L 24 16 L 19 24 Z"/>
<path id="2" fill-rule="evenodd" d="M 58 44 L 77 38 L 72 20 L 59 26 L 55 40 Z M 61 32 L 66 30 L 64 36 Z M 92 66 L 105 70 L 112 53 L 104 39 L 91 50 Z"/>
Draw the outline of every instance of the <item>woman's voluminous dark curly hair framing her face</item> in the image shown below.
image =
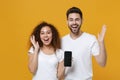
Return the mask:
<path id="1" fill-rule="evenodd" d="M 35 36 L 35 41 L 38 41 L 39 46 L 43 47 L 43 43 L 42 43 L 42 41 L 40 39 L 40 31 L 45 26 L 48 26 L 51 29 L 51 31 L 52 31 L 52 41 L 51 41 L 51 44 L 52 44 L 54 50 L 59 49 L 60 48 L 59 33 L 58 33 L 57 29 L 52 24 L 49 24 L 47 22 L 40 23 L 39 25 L 37 25 L 34 28 L 31 36 L 34 35 Z M 32 46 L 32 43 L 30 43 L 30 46 Z"/>

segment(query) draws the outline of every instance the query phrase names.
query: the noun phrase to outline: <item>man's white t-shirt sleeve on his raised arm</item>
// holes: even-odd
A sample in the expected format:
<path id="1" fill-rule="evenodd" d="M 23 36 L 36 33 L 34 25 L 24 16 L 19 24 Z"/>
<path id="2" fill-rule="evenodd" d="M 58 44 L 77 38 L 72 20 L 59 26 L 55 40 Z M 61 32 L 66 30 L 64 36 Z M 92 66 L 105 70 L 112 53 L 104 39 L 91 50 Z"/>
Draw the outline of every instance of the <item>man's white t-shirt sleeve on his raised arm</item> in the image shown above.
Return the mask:
<path id="1" fill-rule="evenodd" d="M 99 43 L 98 40 L 96 39 L 96 37 L 93 37 L 93 42 L 92 42 L 92 46 L 91 46 L 91 53 L 93 56 L 99 55 L 100 53 L 100 47 L 99 47 Z"/>

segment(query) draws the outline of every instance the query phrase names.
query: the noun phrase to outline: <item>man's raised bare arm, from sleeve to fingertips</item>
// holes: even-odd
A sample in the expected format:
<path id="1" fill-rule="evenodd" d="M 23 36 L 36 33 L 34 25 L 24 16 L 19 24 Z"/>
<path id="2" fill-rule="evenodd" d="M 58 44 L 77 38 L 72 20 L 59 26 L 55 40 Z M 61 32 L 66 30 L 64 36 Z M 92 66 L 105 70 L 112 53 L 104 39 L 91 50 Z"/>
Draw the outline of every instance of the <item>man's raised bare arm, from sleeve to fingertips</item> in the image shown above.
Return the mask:
<path id="1" fill-rule="evenodd" d="M 96 61 L 102 67 L 104 67 L 106 65 L 106 61 L 107 61 L 107 53 L 106 53 L 106 48 L 105 48 L 105 44 L 104 44 L 105 32 L 106 32 L 106 26 L 104 25 L 102 27 L 100 34 L 98 34 L 98 43 L 100 46 L 100 54 L 95 56 Z"/>

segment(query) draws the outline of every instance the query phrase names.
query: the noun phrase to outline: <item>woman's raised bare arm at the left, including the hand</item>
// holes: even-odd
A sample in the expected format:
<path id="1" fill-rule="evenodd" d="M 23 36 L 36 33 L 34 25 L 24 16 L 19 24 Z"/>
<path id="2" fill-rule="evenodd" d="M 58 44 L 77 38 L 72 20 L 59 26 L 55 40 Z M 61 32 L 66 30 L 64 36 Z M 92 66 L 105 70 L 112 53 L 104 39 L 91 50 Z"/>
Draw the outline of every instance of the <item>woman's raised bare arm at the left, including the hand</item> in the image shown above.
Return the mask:
<path id="1" fill-rule="evenodd" d="M 35 74 L 38 66 L 38 52 L 39 52 L 39 45 L 38 42 L 35 41 L 35 37 L 31 37 L 31 42 L 34 46 L 34 53 L 28 54 L 28 67 L 31 73 Z"/>

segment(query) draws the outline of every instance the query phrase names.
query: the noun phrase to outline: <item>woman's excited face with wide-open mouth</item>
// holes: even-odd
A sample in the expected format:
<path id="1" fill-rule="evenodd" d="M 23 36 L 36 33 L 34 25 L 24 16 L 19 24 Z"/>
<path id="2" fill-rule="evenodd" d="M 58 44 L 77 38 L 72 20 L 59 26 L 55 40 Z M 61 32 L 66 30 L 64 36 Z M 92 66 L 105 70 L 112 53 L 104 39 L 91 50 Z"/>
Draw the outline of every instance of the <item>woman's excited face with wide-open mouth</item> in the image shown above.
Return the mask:
<path id="1" fill-rule="evenodd" d="M 49 26 L 45 26 L 40 31 L 40 38 L 43 42 L 43 46 L 51 45 L 52 41 L 52 31 Z"/>

